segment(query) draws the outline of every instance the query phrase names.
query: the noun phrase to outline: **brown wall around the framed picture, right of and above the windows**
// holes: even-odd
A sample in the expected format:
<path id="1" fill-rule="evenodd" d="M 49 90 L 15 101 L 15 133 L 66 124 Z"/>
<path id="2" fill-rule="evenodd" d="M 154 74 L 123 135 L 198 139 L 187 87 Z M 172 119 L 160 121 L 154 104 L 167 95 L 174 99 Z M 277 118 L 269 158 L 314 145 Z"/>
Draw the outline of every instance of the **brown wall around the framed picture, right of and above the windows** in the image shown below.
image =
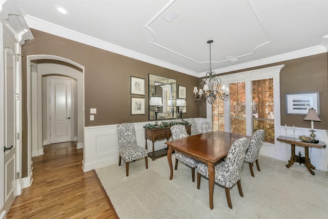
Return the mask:
<path id="1" fill-rule="evenodd" d="M 266 68 L 276 65 L 285 65 L 280 72 L 280 114 L 281 125 L 310 128 L 309 121 L 303 121 L 305 115 L 286 114 L 285 94 L 319 92 L 321 122 L 315 122 L 315 129 L 328 129 L 328 53 L 296 58 L 289 61 L 273 63 L 270 65 L 258 66 L 255 68 L 242 69 L 224 74 L 232 74 L 248 70 Z M 223 74 L 222 74 L 223 75 Z M 200 113 L 205 111 L 206 106 L 202 106 Z"/>

